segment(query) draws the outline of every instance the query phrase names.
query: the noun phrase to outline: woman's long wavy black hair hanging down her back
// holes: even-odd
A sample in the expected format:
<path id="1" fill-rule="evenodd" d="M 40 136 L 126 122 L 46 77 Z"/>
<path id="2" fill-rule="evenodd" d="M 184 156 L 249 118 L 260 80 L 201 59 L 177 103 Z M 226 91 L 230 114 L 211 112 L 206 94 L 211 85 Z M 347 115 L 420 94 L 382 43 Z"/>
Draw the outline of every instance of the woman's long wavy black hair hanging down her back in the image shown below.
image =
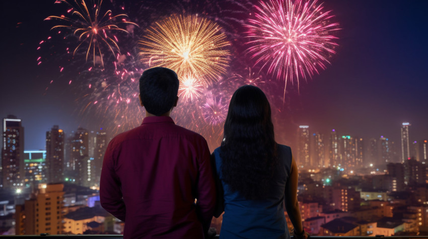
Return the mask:
<path id="1" fill-rule="evenodd" d="M 221 145 L 223 180 L 246 199 L 265 199 L 277 165 L 269 101 L 252 85 L 238 88 L 229 104 Z"/>

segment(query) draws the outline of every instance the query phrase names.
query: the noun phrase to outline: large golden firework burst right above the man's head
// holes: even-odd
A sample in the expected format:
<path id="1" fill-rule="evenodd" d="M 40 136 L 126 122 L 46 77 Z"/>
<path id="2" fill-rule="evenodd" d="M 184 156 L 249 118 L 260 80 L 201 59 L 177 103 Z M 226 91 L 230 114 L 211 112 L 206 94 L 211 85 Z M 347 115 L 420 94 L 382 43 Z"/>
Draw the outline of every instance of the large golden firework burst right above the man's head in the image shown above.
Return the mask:
<path id="1" fill-rule="evenodd" d="M 155 23 L 142 37 L 140 57 L 150 67 L 162 66 L 178 77 L 202 75 L 210 82 L 226 73 L 229 43 L 220 27 L 197 16 L 172 16 Z"/>

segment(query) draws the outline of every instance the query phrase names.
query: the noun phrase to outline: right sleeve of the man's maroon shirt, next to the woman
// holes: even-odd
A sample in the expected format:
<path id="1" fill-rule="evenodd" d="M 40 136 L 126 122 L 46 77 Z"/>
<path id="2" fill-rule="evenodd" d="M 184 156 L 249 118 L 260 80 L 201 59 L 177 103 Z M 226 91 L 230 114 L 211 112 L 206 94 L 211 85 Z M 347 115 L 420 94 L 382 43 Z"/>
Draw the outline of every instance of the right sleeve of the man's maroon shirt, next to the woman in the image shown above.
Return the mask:
<path id="1" fill-rule="evenodd" d="M 196 205 L 202 219 L 204 233 L 207 233 L 216 206 L 216 184 L 212 175 L 210 154 L 205 140 L 200 144 L 198 162 Z"/>

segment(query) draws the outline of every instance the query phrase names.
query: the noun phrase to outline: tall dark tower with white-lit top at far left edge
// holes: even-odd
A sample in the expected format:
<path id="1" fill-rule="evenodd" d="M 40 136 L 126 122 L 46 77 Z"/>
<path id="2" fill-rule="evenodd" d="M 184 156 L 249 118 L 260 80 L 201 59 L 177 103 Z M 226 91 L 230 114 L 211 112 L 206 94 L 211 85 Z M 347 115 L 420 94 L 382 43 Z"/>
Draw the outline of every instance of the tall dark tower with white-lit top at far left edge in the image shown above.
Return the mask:
<path id="1" fill-rule="evenodd" d="M 15 115 L 3 118 L 2 169 L 4 188 L 24 185 L 24 127 Z"/>

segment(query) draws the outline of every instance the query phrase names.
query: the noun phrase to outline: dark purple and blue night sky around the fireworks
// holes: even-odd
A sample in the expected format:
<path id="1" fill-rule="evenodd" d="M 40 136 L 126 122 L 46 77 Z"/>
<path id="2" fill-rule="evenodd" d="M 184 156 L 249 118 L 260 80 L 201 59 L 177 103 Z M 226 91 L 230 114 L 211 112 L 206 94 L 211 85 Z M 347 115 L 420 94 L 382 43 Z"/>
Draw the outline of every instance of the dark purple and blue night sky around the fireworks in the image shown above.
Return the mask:
<path id="1" fill-rule="evenodd" d="M 85 79 L 80 77 L 68 85 L 70 78 L 91 65 L 90 61 L 86 63 L 84 59 L 78 59 L 79 56 L 69 63 L 56 62 L 60 58 L 57 55 L 49 58 L 65 45 L 59 41 L 60 38 L 36 50 L 41 40 L 55 35 L 50 31 L 52 23 L 43 20 L 64 12 L 64 8 L 54 5 L 54 2 L 1 1 L 0 116 L 15 114 L 22 118 L 26 150 L 44 149 L 45 132 L 53 125 L 59 125 L 67 133 L 80 126 L 96 130 L 108 125 L 109 121 L 109 118 L 100 120 L 103 115 L 98 112 L 89 110 L 81 113 L 86 104 L 80 100 L 85 98 L 81 98 L 81 88 L 76 85 L 84 84 Z M 140 2 L 149 7 L 142 8 Z M 137 35 L 144 34 L 144 29 L 153 19 L 161 19 L 162 15 L 168 14 L 165 9 L 169 8 L 154 11 L 159 8 L 159 2 L 162 1 L 135 1 L 130 6 L 125 5 L 124 12 L 119 11 L 121 4 L 111 4 L 110 1 L 106 4 L 111 5 L 116 14 L 128 14 L 130 20 L 140 26 L 135 30 Z M 222 1 L 215 2 L 222 7 Z M 237 10 L 235 3 L 223 2 L 225 8 L 231 6 Z M 210 9 L 204 7 L 204 3 L 185 1 L 182 6 L 189 13 L 201 11 L 198 14 L 209 15 Z M 276 99 L 271 101 L 278 141 L 293 144 L 298 126 L 309 125 L 311 133 L 326 134 L 336 129 L 340 135 L 367 140 L 382 135 L 399 143 L 403 122 L 411 124 L 411 141 L 427 139 L 428 1 L 326 0 L 324 6 L 332 10 L 334 21 L 340 24 L 337 53 L 330 59 L 331 65 L 327 65 L 326 70 L 321 70 L 319 75 L 315 74 L 306 82 L 301 81 L 299 89 L 296 85 L 288 86 L 285 103 Z M 141 9 L 151 12 L 150 17 L 138 13 L 137 10 Z M 212 10 L 212 14 L 218 13 Z M 227 19 L 229 16 L 215 17 Z M 215 19 L 213 16 L 210 18 Z M 225 28 L 233 33 L 242 31 L 236 22 Z M 72 40 L 66 42 L 71 47 L 76 43 Z M 241 50 L 242 47 L 237 46 L 232 52 L 240 55 L 243 54 Z M 39 56 L 44 60 L 38 66 Z M 60 73 L 59 65 L 66 70 Z M 111 66 L 106 64 L 105 67 Z M 54 83 L 49 84 L 51 80 Z M 265 84 L 269 82 L 266 78 Z M 278 85 L 283 85 L 283 82 Z M 267 94 L 269 99 L 281 99 L 282 93 L 279 89 Z"/>

